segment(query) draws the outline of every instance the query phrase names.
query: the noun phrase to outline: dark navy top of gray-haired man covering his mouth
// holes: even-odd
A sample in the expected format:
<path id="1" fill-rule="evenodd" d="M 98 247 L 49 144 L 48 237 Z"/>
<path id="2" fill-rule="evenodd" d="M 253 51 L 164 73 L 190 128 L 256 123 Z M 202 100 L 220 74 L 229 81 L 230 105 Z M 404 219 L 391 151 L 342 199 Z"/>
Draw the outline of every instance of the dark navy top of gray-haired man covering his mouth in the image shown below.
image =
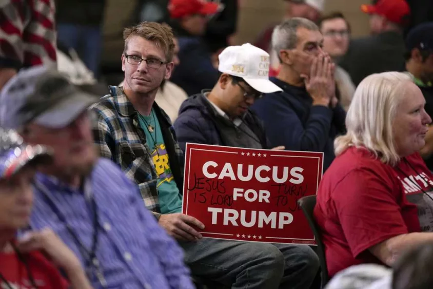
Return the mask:
<path id="1" fill-rule="evenodd" d="M 252 109 L 264 121 L 271 146 L 323 152 L 325 171 L 335 158 L 334 139 L 346 132 L 346 112 L 340 104 L 333 109 L 312 105 L 305 87 L 292 86 L 276 78 L 270 80 L 283 92 L 266 93 Z"/>

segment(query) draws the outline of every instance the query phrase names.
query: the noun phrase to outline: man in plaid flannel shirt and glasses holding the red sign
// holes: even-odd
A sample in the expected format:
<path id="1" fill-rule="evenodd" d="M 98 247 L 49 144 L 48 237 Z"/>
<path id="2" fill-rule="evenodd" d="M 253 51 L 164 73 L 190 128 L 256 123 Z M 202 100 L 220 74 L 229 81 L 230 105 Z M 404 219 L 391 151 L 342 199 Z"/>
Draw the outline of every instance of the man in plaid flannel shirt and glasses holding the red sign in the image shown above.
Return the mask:
<path id="1" fill-rule="evenodd" d="M 167 115 L 154 102 L 161 82 L 173 69 L 173 34 L 166 25 L 145 22 L 125 29 L 124 39 L 124 85 L 111 87 L 110 94 L 92 107 L 101 156 L 119 164 L 139 186 L 146 207 L 183 247 L 193 275 L 251 289 L 279 288 L 284 278 L 303 278 L 299 272 L 309 264 L 297 246 L 291 252 L 297 256 L 296 268 L 285 266 L 276 246 L 203 239 L 196 230 L 203 223 L 181 214 L 182 151 Z M 287 267 L 290 272 L 285 272 Z"/>

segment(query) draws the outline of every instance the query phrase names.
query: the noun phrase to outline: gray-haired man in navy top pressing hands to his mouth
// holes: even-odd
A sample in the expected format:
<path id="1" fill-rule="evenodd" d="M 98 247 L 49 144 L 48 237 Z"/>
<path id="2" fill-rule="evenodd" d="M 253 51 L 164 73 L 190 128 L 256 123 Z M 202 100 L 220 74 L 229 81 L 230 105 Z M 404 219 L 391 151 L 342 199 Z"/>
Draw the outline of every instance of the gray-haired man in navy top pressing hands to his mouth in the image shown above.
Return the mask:
<path id="1" fill-rule="evenodd" d="M 272 47 L 281 69 L 270 78 L 283 92 L 265 93 L 252 106 L 272 146 L 323 152 L 323 170 L 335 158 L 333 141 L 345 132 L 346 112 L 336 94 L 335 65 L 323 51 L 319 27 L 291 18 L 275 27 Z"/>

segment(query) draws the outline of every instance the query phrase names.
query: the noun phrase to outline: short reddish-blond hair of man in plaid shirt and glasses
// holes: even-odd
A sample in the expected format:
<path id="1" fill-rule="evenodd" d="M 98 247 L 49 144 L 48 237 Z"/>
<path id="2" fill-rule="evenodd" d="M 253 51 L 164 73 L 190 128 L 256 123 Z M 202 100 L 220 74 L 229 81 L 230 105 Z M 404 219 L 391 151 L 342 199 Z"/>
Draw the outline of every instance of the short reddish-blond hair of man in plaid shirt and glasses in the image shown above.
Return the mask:
<path id="1" fill-rule="evenodd" d="M 123 53 L 126 53 L 128 49 L 128 41 L 131 36 L 140 36 L 154 42 L 164 51 L 167 62 L 171 62 L 173 59 L 174 35 L 173 30 L 167 24 L 144 21 L 139 25 L 125 28 L 123 30 L 123 40 L 125 41 Z"/>

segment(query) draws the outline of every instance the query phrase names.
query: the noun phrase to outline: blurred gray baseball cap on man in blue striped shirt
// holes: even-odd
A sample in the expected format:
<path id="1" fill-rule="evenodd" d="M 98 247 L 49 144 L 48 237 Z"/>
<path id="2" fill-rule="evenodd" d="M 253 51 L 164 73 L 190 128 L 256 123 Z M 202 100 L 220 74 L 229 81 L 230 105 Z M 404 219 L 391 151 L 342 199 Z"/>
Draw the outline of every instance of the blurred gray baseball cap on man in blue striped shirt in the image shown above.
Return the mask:
<path id="1" fill-rule="evenodd" d="M 0 93 L 0 127 L 17 129 L 30 122 L 66 127 L 98 100 L 57 70 L 46 66 L 23 69 Z"/>

